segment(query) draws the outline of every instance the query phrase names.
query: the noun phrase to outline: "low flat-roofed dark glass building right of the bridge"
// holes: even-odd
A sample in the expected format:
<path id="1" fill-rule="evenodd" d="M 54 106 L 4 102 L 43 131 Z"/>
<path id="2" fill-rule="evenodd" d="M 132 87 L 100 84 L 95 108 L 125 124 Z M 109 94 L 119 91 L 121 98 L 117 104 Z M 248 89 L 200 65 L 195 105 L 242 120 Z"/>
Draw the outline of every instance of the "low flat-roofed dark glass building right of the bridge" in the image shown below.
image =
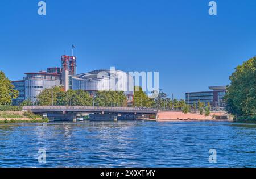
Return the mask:
<path id="1" fill-rule="evenodd" d="M 212 91 L 201 91 L 201 92 L 191 92 L 186 93 L 186 103 L 189 105 L 193 105 L 200 100 L 200 102 L 204 102 L 205 105 L 210 103 L 210 106 L 213 107 L 224 107 L 225 102 L 223 98 L 226 94 L 226 86 L 210 86 L 210 90 Z"/>

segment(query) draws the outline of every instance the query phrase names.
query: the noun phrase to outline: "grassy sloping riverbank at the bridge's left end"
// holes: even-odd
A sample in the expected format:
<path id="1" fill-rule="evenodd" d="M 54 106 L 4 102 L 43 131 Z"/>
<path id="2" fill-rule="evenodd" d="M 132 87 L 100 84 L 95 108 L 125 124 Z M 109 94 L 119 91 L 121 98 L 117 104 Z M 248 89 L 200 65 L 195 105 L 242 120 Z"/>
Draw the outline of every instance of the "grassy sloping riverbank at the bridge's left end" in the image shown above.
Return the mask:
<path id="1" fill-rule="evenodd" d="M 0 123 L 40 123 L 49 122 L 49 119 L 41 118 L 39 115 L 28 111 L 0 111 Z"/>

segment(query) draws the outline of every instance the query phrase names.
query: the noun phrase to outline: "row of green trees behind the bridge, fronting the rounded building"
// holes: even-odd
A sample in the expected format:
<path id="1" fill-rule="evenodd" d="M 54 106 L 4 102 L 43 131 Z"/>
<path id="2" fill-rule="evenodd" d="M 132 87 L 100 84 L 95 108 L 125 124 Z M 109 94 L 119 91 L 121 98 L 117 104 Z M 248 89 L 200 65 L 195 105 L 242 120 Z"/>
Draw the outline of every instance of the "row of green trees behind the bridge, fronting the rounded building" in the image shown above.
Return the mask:
<path id="1" fill-rule="evenodd" d="M 83 90 L 68 90 L 65 92 L 61 87 L 53 87 L 44 89 L 38 95 L 35 103 L 29 99 L 23 101 L 21 105 L 39 105 L 39 106 L 112 106 L 112 107 L 142 107 L 142 108 L 158 108 L 161 110 L 182 110 L 184 109 L 185 101 L 171 100 L 166 98 L 167 95 L 162 91 L 157 98 L 150 98 L 141 87 L 134 87 L 133 103 L 129 104 L 127 97 L 123 91 L 97 91 L 95 95 L 90 95 Z"/>

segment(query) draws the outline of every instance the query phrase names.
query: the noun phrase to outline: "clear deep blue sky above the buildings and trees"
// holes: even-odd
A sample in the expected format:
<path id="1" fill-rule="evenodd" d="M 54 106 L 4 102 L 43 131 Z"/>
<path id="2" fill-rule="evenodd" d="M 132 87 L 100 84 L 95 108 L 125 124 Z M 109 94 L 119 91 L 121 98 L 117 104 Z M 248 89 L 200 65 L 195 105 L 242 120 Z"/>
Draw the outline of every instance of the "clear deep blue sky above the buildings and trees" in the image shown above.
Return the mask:
<path id="1" fill-rule="evenodd" d="M 77 73 L 94 69 L 159 71 L 160 88 L 186 91 L 227 85 L 234 68 L 256 55 L 256 1 L 1 0 L 0 70 L 10 80 L 60 66 L 75 44 Z"/>

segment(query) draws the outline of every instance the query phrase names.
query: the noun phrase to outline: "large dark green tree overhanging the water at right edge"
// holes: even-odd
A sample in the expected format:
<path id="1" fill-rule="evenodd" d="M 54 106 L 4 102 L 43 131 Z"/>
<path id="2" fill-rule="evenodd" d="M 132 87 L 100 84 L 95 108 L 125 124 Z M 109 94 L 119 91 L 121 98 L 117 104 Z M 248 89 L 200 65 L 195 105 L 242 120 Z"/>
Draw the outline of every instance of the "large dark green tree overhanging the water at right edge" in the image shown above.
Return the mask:
<path id="1" fill-rule="evenodd" d="M 238 65 L 229 77 L 225 101 L 228 113 L 238 116 L 236 120 L 256 118 L 256 56 Z"/>

